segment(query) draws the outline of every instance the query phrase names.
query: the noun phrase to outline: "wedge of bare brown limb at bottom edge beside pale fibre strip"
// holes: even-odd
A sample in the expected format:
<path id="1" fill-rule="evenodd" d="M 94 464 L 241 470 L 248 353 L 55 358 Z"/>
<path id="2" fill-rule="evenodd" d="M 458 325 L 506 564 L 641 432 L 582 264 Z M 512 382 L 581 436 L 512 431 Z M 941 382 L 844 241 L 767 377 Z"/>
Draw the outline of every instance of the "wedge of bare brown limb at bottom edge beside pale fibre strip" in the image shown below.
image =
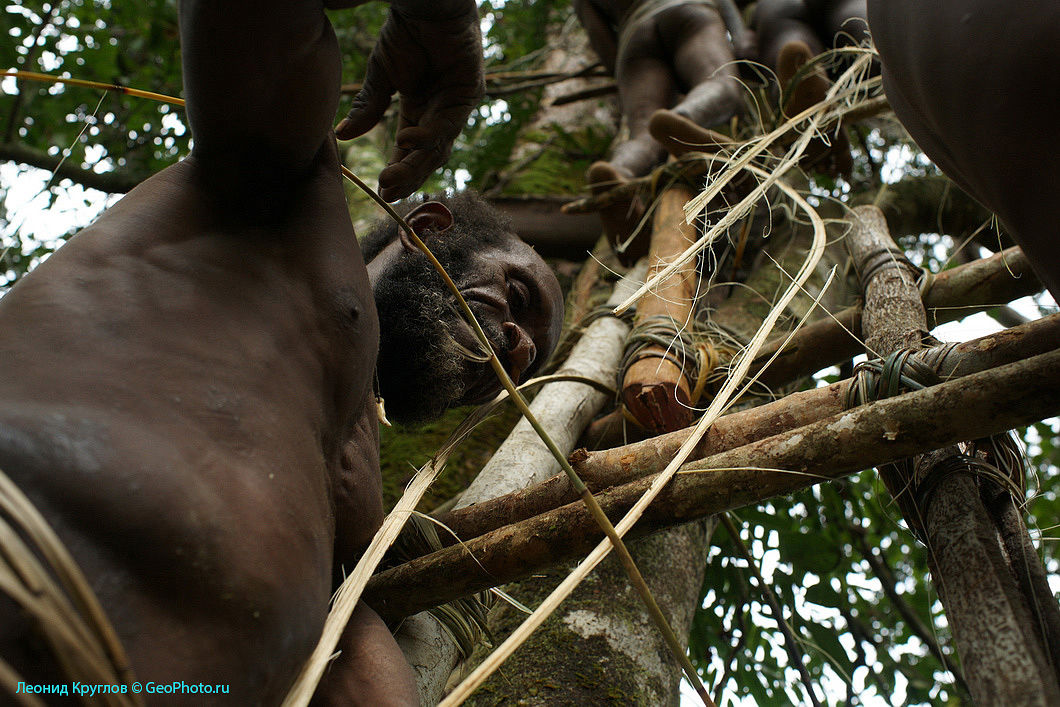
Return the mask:
<path id="1" fill-rule="evenodd" d="M 338 650 L 313 696 L 314 705 L 419 706 L 411 668 L 383 619 L 366 604 L 357 604 Z"/>

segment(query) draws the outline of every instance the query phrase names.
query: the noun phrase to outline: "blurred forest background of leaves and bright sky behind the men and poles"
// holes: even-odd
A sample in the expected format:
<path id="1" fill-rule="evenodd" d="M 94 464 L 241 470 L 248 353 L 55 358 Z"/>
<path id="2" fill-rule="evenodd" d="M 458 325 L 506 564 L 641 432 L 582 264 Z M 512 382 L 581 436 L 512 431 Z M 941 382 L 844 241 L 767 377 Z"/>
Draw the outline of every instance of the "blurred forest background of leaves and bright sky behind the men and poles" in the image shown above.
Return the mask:
<path id="1" fill-rule="evenodd" d="M 583 88 L 575 83 L 586 81 L 563 84 L 554 74 L 599 73 L 591 69 L 595 57 L 580 37 L 569 3 L 479 4 L 488 96 L 470 119 L 453 159 L 426 190 L 466 185 L 495 198 L 583 195 L 584 170 L 606 154 L 617 113 L 614 93 L 606 89 L 565 108 L 552 105 L 558 93 L 571 94 Z M 363 75 L 384 12 L 384 5 L 372 3 L 333 15 L 346 50 L 348 93 Z M 176 4 L 8 0 L 0 7 L 0 65 L 179 95 Z M 560 65 L 564 68 L 555 70 Z M 589 79 L 591 86 L 606 84 L 605 77 Z M 2 295 L 122 193 L 187 155 L 190 136 L 181 109 L 165 103 L 12 77 L 0 82 L 0 89 Z M 937 214 L 936 229 L 896 231 L 911 258 L 933 270 L 967 260 L 961 253 L 978 257 L 1007 245 L 989 215 L 966 205 L 967 197 L 961 200 L 954 193 L 891 118 L 849 129 L 853 175 L 815 175 L 801 182 L 815 202 L 853 204 L 866 194 L 878 200 L 882 190 Z M 391 134 L 392 125 L 384 125 L 347 145 L 347 164 L 372 181 L 385 163 Z M 379 217 L 364 195 L 351 190 L 349 197 L 359 231 Z M 958 211 L 961 215 L 954 216 Z M 943 213 L 959 227 L 943 220 Z M 553 261 L 567 285 L 586 257 L 564 253 Z M 1046 296 L 1025 298 L 936 335 L 964 340 L 1011 325 L 1021 313 L 1035 318 L 1054 311 Z M 827 369 L 801 385 L 840 375 Z M 386 432 L 384 473 L 391 502 L 412 467 L 441 444 L 464 412 L 455 411 L 423 430 Z M 443 502 L 462 489 L 514 419 L 508 412 L 492 420 L 462 445 L 429 503 Z M 1032 425 L 1022 437 L 1034 470 L 1027 524 L 1056 591 L 1058 422 Z M 712 694 L 748 704 L 806 700 L 764 599 L 764 582 L 783 607 L 810 677 L 827 703 L 919 705 L 966 697 L 923 547 L 871 471 L 734 515 L 747 553 L 724 529 L 714 532 L 689 637 L 690 655 Z"/>

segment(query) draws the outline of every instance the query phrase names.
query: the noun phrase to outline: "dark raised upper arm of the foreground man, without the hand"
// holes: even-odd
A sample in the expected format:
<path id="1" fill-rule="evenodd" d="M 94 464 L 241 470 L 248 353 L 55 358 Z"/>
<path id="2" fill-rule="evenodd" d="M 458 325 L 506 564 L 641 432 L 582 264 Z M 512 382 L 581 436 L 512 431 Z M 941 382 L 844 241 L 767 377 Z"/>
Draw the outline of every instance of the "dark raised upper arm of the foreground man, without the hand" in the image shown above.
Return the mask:
<path id="1" fill-rule="evenodd" d="M 339 52 L 323 7 L 322 0 L 181 1 L 197 158 L 265 179 L 308 166 L 338 107 Z"/>

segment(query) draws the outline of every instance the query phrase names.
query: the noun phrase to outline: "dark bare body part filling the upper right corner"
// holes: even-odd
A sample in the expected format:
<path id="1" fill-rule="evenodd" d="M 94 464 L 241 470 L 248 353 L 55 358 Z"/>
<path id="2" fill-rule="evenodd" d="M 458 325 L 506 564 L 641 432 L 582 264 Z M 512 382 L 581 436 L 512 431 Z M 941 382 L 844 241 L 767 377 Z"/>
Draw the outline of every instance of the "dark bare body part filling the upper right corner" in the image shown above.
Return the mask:
<path id="1" fill-rule="evenodd" d="M 1055 299 L 1056 64 L 1060 5 L 870 0 L 895 113 L 917 144 L 997 214 Z"/>

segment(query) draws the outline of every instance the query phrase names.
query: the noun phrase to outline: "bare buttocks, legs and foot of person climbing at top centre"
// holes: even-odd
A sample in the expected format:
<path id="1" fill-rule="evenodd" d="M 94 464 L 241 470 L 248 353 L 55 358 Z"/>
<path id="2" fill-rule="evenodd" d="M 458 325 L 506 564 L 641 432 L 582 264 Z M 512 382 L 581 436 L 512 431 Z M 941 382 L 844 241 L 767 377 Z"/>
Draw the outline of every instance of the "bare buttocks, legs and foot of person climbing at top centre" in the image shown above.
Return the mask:
<path id="1" fill-rule="evenodd" d="M 589 167 L 586 179 L 594 192 L 642 176 L 666 159 L 666 149 L 652 138 L 652 122 L 706 127 L 728 120 L 742 105 L 732 48 L 718 10 L 675 3 L 644 17 L 638 18 L 635 11 L 628 17 L 638 4 L 575 2 L 593 49 L 615 75 L 630 130 L 630 139 L 615 147 L 610 161 Z M 622 36 L 628 36 L 624 43 Z M 629 236 L 641 213 L 629 205 L 602 212 L 612 242 Z M 625 253 L 625 260 L 634 261 L 644 251 L 647 243 L 639 244 Z"/>

